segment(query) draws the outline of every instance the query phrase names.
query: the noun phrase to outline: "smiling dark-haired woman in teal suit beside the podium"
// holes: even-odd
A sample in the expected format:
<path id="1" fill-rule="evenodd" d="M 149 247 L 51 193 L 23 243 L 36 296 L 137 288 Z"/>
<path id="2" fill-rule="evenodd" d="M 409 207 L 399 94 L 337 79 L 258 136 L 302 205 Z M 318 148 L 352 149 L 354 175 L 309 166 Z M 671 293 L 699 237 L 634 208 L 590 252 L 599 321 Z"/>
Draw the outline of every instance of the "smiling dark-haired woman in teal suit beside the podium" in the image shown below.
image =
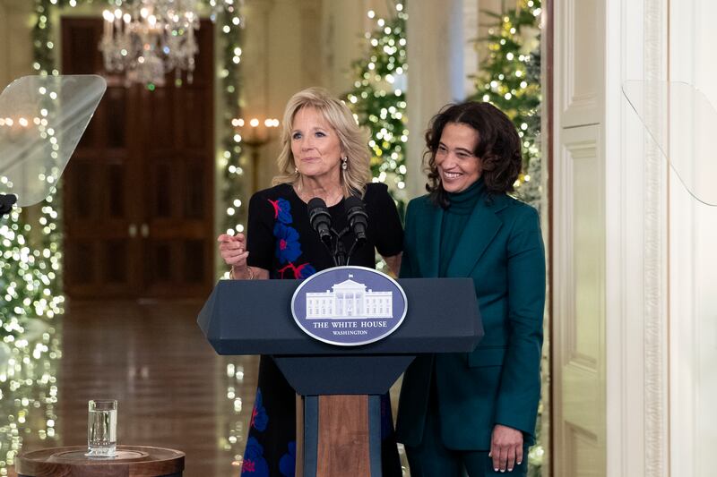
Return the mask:
<path id="1" fill-rule="evenodd" d="M 398 440 L 412 477 L 524 475 L 540 400 L 545 253 L 537 211 L 507 195 L 521 140 L 495 106 L 466 102 L 433 118 L 426 144 L 429 193 L 408 206 L 401 277 L 472 277 L 485 336 L 472 353 L 411 363 Z"/>

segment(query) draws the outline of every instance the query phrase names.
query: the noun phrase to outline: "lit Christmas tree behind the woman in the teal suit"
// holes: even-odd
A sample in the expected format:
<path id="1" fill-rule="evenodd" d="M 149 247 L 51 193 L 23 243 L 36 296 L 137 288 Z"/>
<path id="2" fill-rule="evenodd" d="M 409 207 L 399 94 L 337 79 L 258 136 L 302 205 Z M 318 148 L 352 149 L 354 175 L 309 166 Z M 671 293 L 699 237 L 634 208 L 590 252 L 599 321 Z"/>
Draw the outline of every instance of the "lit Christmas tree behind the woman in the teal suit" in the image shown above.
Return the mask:
<path id="1" fill-rule="evenodd" d="M 473 79 L 471 99 L 497 106 L 523 140 L 523 173 L 516 194 L 540 210 L 540 0 L 518 0 L 505 13 L 485 13 L 496 24 L 478 47 L 488 55 Z"/>

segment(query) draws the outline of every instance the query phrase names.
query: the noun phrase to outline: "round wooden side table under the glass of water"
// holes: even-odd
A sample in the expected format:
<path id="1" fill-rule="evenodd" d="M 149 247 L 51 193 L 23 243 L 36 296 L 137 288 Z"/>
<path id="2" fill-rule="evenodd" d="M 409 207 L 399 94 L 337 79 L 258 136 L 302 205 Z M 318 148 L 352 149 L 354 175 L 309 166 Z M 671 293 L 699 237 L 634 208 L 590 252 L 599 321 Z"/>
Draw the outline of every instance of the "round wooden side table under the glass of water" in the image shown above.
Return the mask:
<path id="1" fill-rule="evenodd" d="M 53 447 L 17 458 L 18 477 L 181 477 L 185 453 L 174 449 L 117 446 L 115 457 L 87 457 L 86 446 Z"/>

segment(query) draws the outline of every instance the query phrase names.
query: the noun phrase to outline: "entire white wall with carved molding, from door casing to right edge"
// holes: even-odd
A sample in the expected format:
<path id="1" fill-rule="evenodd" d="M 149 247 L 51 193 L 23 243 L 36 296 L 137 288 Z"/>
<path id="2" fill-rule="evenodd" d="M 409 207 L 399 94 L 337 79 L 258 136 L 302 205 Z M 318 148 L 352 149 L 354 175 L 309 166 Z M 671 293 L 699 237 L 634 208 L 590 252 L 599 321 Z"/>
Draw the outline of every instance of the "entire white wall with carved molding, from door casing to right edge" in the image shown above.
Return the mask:
<path id="1" fill-rule="evenodd" d="M 712 475 L 717 208 L 690 196 L 621 88 L 628 80 L 685 81 L 717 104 L 709 59 L 717 4 L 607 4 L 608 475 Z M 683 98 L 669 101 L 683 106 Z M 692 122 L 704 117 L 678 116 L 660 91 L 632 99 L 669 137 L 661 146 L 682 175 L 699 178 L 696 158 L 714 164 L 711 138 L 706 154 L 695 138 Z M 717 126 L 717 114 L 711 117 Z"/>

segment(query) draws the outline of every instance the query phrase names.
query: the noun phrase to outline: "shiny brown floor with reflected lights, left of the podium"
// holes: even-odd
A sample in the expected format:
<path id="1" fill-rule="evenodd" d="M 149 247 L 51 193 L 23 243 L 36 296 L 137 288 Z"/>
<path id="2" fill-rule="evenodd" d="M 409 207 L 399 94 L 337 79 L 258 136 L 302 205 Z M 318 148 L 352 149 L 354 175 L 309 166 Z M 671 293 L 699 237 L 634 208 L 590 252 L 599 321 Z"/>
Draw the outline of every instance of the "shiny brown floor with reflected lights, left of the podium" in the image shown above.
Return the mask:
<path id="1" fill-rule="evenodd" d="M 0 348 L 0 476 L 14 475 L 18 449 L 85 444 L 93 398 L 119 402 L 119 444 L 182 450 L 186 477 L 238 475 L 258 358 L 214 353 L 201 306 L 69 303 L 25 355 Z"/>

